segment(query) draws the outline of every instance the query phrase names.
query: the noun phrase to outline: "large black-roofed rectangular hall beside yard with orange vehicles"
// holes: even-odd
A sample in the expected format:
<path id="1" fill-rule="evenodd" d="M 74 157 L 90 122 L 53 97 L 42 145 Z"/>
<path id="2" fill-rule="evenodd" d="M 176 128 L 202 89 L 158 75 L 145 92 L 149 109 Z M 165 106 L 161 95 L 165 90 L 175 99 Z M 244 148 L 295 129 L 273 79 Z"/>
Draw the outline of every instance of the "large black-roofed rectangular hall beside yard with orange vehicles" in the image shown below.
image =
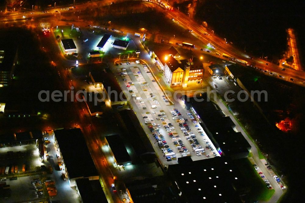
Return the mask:
<path id="1" fill-rule="evenodd" d="M 81 129 L 54 130 L 54 134 L 55 144 L 60 154 L 59 163 L 65 169 L 64 172 L 68 177 L 70 187 L 74 187 L 75 180 L 79 178 L 98 180 L 99 174 Z"/>

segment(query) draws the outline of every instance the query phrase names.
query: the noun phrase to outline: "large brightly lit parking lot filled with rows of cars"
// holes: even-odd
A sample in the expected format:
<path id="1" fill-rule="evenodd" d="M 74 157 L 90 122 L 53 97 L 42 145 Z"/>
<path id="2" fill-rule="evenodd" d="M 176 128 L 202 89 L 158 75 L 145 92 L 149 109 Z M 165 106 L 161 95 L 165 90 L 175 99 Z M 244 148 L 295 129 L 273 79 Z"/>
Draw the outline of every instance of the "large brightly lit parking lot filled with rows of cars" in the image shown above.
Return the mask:
<path id="1" fill-rule="evenodd" d="M 193 160 L 219 156 L 194 116 L 179 102 L 170 105 L 146 64 L 117 62 L 113 68 L 164 165 L 175 164 L 182 156 Z"/>

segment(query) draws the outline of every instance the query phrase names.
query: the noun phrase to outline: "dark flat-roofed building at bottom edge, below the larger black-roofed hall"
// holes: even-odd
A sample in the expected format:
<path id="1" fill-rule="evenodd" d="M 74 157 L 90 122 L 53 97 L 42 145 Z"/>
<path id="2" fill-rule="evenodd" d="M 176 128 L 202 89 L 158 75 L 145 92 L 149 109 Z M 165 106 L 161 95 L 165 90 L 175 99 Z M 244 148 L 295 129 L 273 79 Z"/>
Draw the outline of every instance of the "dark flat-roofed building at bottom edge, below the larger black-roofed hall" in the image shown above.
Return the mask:
<path id="1" fill-rule="evenodd" d="M 81 178 L 75 181 L 75 186 L 82 203 L 108 203 L 99 180 Z"/>

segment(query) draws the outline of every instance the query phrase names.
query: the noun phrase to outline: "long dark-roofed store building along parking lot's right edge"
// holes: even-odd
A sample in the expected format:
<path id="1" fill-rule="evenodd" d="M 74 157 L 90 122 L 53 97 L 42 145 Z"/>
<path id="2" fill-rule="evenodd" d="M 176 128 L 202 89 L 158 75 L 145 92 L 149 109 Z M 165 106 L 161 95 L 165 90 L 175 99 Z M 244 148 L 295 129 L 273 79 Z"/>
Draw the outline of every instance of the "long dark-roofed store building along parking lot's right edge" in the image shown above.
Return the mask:
<path id="1" fill-rule="evenodd" d="M 212 101 L 207 100 L 207 94 L 198 102 L 194 98 L 182 97 L 185 108 L 193 113 L 199 120 L 206 135 L 221 156 L 230 156 L 232 159 L 248 157 L 251 145 L 240 132 L 235 129 L 235 124 L 230 117 L 225 116 L 221 109 Z"/>

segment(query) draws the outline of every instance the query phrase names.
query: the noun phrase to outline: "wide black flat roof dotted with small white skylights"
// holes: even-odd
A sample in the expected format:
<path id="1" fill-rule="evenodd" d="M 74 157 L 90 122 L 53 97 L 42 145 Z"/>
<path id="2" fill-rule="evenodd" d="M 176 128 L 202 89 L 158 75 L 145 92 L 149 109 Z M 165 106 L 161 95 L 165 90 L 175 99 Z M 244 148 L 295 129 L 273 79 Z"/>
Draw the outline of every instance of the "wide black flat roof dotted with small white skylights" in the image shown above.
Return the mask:
<path id="1" fill-rule="evenodd" d="M 235 188 L 243 180 L 228 157 L 178 158 L 178 164 L 168 166 L 168 174 L 180 202 L 242 202 Z"/>

